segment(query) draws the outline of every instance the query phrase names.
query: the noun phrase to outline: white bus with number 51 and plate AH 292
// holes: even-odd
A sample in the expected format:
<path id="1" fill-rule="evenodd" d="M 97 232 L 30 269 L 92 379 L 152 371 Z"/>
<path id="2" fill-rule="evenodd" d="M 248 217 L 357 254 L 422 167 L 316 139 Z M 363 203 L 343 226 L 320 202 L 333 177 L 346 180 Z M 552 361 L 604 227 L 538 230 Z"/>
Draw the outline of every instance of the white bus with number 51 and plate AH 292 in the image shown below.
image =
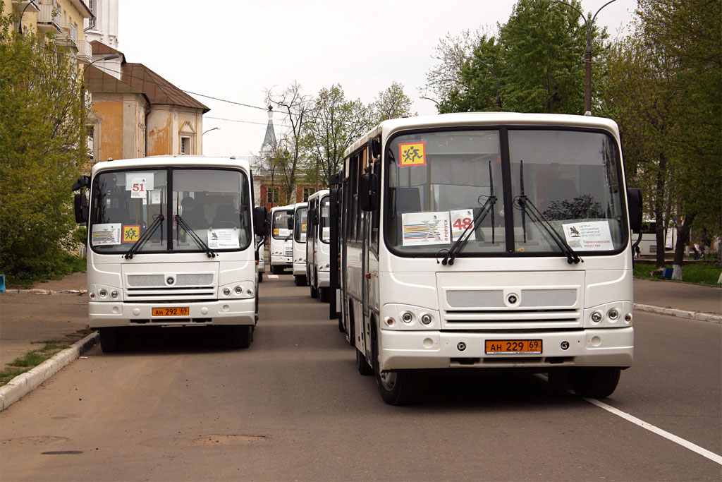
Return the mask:
<path id="1" fill-rule="evenodd" d="M 85 194 L 90 188 L 90 205 Z M 244 160 L 158 156 L 97 163 L 73 190 L 88 223 L 88 319 L 105 352 L 131 330 L 220 327 L 234 348 L 253 340 L 256 235 Z M 167 332 L 167 331 L 166 331 Z"/>

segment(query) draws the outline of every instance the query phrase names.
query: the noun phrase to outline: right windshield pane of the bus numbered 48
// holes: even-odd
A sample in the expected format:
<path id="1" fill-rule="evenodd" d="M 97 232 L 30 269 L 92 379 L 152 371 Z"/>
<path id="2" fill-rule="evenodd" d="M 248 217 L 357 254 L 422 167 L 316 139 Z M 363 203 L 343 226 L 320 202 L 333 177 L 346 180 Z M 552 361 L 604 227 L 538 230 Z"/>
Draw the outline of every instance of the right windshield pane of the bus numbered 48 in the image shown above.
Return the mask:
<path id="1" fill-rule="evenodd" d="M 541 225 L 544 220 L 519 209 L 522 195 L 574 251 L 622 248 L 620 160 L 609 134 L 510 130 L 509 150 L 516 251 L 559 251 Z"/>

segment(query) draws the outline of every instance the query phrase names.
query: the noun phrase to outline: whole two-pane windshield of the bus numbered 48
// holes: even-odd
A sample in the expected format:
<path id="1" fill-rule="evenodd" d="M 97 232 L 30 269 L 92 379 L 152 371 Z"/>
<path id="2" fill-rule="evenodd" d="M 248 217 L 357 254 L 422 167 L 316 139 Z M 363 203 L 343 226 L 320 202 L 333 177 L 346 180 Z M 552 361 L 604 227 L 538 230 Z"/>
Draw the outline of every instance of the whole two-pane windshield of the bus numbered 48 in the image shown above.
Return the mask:
<path id="1" fill-rule="evenodd" d="M 401 254 L 436 256 L 470 230 L 461 257 L 511 246 L 518 256 L 558 254 L 553 229 L 574 251 L 619 251 L 627 234 L 618 152 L 609 134 L 564 129 L 393 137 L 386 150 L 386 243 Z"/>

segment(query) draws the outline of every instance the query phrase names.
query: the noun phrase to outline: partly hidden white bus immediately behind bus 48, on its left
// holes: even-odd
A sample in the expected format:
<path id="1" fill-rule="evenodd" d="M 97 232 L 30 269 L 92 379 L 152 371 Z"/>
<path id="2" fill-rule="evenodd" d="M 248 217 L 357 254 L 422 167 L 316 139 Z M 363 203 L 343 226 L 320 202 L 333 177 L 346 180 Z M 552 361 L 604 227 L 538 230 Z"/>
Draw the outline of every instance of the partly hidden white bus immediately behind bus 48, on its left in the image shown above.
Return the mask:
<path id="1" fill-rule="evenodd" d="M 331 227 L 329 223 L 329 189 L 308 197 L 309 224 L 306 243 L 306 275 L 311 298 L 329 301 L 329 267 Z"/>

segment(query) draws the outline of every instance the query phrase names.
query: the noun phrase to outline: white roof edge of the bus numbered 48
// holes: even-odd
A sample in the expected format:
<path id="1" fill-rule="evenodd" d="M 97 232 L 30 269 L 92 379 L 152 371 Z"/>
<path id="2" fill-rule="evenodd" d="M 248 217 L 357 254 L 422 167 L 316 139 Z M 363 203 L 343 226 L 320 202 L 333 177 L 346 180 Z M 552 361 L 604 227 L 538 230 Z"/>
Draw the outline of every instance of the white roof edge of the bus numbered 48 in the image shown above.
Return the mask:
<path id="1" fill-rule="evenodd" d="M 458 112 L 437 116 L 402 117 L 383 121 L 344 152 L 344 157 L 364 145 L 369 139 L 382 134 L 383 141 L 396 131 L 406 129 L 427 129 L 443 126 L 567 126 L 605 129 L 614 134 L 619 142 L 619 128 L 612 119 L 593 116 L 571 116 L 568 114 L 517 113 L 517 112 Z"/>

